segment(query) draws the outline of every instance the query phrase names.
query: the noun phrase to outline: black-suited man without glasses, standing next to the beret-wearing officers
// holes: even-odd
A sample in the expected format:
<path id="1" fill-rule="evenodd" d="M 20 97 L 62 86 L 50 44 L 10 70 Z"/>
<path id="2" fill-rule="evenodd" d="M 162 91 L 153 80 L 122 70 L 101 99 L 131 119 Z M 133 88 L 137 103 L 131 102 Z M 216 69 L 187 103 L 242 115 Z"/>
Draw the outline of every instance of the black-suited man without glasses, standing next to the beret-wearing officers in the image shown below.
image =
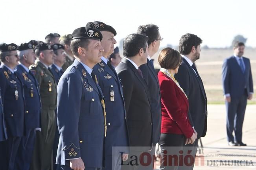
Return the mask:
<path id="1" fill-rule="evenodd" d="M 153 146 L 150 95 L 147 83 L 139 68 L 142 64 L 147 63 L 147 37 L 141 34 L 126 36 L 123 41 L 123 55 L 125 58 L 116 67 L 116 71 L 123 84 L 131 146 L 129 157 L 131 158 L 133 155 L 139 156 L 141 152 L 151 150 Z M 134 148 L 133 146 L 140 147 Z M 138 169 L 139 166 L 136 165 L 125 166 L 129 163 L 131 163 L 131 159 L 122 164 L 122 169 Z"/>

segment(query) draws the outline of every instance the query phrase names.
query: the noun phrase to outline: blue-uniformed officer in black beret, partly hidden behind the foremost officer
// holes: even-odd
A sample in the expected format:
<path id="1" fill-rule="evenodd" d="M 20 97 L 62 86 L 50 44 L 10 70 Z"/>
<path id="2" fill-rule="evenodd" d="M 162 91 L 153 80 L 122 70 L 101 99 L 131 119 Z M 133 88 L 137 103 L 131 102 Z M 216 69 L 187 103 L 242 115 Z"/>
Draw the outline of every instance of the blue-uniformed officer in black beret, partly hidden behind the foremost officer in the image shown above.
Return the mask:
<path id="1" fill-rule="evenodd" d="M 107 112 L 107 137 L 106 137 L 106 166 L 105 170 L 118 170 L 121 162 L 119 152 L 113 150 L 112 146 L 128 146 L 128 132 L 125 121 L 125 105 L 123 100 L 123 89 L 116 74 L 107 57 L 114 52 L 114 44 L 116 40 L 116 30 L 103 22 L 88 22 L 87 26 L 98 29 L 103 38 L 101 45 L 104 49 L 101 62 L 93 67 L 99 86 L 103 91 Z M 126 150 L 127 152 L 127 150 Z M 123 154 L 122 159 L 127 159 L 128 155 Z"/>

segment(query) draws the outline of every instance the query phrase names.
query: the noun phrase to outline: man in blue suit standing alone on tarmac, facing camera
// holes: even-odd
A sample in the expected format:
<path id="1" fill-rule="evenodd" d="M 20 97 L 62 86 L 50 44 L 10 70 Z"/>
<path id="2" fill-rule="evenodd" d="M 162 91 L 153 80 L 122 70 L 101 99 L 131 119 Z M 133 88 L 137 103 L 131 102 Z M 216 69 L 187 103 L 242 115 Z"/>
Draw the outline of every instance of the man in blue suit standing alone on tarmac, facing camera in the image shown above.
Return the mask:
<path id="1" fill-rule="evenodd" d="M 252 99 L 253 83 L 250 60 L 243 57 L 244 49 L 244 43 L 234 43 L 234 54 L 224 61 L 222 67 L 227 109 L 227 140 L 230 146 L 246 146 L 242 142 L 242 128 L 247 99 Z"/>

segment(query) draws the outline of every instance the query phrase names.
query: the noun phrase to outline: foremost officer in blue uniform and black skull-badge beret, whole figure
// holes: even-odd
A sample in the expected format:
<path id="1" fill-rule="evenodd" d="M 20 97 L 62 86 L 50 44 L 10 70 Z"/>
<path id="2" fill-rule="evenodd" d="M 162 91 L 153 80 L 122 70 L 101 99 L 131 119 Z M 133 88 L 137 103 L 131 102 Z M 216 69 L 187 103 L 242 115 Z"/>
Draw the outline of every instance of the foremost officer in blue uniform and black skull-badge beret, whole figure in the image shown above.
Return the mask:
<path id="1" fill-rule="evenodd" d="M 104 166 L 107 133 L 105 104 L 92 67 L 101 61 L 102 34 L 89 27 L 72 33 L 76 58 L 57 87 L 60 132 L 56 163 L 63 170 L 100 170 Z"/>

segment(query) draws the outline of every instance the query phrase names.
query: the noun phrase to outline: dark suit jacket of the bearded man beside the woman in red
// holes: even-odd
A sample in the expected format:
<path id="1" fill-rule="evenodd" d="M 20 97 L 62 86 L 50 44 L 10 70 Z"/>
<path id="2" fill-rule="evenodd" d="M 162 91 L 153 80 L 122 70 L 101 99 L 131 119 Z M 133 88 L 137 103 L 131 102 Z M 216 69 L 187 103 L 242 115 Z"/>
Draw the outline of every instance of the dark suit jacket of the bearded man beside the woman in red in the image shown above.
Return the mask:
<path id="1" fill-rule="evenodd" d="M 189 63 L 182 58 L 179 71 L 175 79 L 188 96 L 190 105 L 188 117 L 190 123 L 197 131 L 197 138 L 204 137 L 207 130 L 207 98 L 203 81 L 196 75 Z"/>

